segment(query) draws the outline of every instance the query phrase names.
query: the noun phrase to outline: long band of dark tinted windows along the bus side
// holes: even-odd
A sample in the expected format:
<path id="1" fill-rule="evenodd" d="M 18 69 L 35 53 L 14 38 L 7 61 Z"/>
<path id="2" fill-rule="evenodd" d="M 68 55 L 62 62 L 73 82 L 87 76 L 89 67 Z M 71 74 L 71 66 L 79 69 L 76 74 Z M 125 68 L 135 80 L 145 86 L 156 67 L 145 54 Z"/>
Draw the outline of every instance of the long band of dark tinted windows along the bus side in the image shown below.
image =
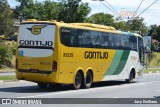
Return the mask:
<path id="1" fill-rule="evenodd" d="M 61 28 L 61 43 L 69 47 L 137 50 L 135 36 L 74 28 Z"/>

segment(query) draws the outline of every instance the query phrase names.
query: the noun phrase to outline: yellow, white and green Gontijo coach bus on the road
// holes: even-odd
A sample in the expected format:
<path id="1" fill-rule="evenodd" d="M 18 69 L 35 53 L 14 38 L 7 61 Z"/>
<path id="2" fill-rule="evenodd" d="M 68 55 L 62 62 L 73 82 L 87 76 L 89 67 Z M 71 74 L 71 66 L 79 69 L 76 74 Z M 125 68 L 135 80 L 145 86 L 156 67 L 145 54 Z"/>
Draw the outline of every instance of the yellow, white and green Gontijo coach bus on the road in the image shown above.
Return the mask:
<path id="1" fill-rule="evenodd" d="M 28 19 L 19 27 L 17 42 L 17 79 L 40 88 L 90 88 L 93 82 L 133 82 L 143 75 L 142 37 L 111 26 Z"/>

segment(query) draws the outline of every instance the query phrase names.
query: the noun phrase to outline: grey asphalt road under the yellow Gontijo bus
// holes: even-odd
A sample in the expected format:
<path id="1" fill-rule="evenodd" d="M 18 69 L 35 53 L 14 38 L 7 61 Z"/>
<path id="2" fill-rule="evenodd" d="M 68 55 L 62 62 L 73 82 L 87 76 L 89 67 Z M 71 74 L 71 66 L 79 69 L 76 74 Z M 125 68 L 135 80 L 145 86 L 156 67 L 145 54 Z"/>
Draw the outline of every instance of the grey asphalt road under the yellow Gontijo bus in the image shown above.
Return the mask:
<path id="1" fill-rule="evenodd" d="M 132 84 L 126 84 L 123 81 L 107 81 L 94 83 L 90 89 L 79 90 L 72 90 L 70 85 L 42 90 L 32 82 L 5 82 L 0 83 L 0 98 L 160 98 L 160 73 L 145 74 L 143 78 L 136 79 Z M 50 105 L 46 107 L 48 106 Z M 75 105 L 58 106 L 74 107 Z M 96 107 L 96 105 L 90 106 Z M 97 106 L 105 107 L 102 104 Z M 135 104 L 129 106 L 135 106 Z M 159 106 L 154 105 L 154 107 Z"/>

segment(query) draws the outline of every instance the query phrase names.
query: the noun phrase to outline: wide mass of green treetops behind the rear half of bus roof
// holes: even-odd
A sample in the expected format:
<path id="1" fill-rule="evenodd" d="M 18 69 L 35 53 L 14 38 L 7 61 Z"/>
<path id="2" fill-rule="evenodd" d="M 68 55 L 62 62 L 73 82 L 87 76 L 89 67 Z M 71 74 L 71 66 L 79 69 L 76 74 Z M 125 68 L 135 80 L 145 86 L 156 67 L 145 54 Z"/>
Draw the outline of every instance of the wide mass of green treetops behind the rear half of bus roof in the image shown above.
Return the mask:
<path id="1" fill-rule="evenodd" d="M 54 2 L 46 0 L 38 2 L 33 0 L 17 0 L 20 5 L 16 7 L 14 13 L 16 18 L 38 19 L 38 20 L 58 20 L 64 22 L 83 22 L 90 12 L 87 3 L 81 0 L 60 0 Z"/>

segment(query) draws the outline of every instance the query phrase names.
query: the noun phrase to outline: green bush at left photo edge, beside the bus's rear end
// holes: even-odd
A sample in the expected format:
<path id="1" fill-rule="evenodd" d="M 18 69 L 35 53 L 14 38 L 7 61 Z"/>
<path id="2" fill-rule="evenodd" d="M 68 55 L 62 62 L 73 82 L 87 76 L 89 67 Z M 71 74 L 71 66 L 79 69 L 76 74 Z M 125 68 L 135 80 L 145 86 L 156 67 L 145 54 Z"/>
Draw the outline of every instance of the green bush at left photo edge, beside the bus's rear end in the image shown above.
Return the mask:
<path id="1" fill-rule="evenodd" d="M 6 61 L 11 60 L 13 57 L 13 50 L 10 44 L 5 44 L 0 42 L 0 65 L 4 64 Z"/>

